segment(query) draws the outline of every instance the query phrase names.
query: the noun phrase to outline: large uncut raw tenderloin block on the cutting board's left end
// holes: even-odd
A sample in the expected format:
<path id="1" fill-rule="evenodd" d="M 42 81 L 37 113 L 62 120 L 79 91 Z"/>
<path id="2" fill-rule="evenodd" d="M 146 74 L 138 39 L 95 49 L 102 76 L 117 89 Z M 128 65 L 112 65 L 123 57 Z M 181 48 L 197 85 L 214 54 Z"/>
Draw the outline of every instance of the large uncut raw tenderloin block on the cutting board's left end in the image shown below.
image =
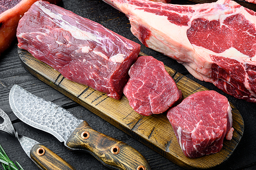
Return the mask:
<path id="1" fill-rule="evenodd" d="M 18 47 L 65 78 L 120 99 L 140 45 L 99 23 L 43 1 L 20 19 Z"/>

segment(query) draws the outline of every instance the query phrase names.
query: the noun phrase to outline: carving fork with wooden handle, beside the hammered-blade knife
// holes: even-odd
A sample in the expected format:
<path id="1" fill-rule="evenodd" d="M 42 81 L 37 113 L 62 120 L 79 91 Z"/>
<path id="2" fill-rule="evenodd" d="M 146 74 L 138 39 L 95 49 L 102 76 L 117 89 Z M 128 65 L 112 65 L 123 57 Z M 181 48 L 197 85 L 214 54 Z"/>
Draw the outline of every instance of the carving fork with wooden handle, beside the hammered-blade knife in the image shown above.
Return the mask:
<path id="1" fill-rule="evenodd" d="M 0 123 L 0 131 L 9 133 L 16 137 L 22 145 L 23 150 L 30 159 L 40 168 L 44 170 L 75 170 L 68 162 L 63 160 L 57 154 L 52 152 L 45 145 L 40 144 L 34 139 L 29 137 L 18 135 L 14 129 L 9 116 L 0 109 L 0 117 L 4 119 L 4 122 Z"/>

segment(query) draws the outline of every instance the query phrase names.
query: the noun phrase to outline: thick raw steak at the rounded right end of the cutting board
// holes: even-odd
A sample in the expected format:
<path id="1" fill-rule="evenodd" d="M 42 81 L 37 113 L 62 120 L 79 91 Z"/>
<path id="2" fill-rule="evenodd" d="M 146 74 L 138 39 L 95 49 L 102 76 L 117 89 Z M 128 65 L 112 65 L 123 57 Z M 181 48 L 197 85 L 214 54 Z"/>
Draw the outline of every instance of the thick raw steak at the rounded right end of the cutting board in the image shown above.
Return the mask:
<path id="1" fill-rule="evenodd" d="M 231 107 L 227 98 L 216 91 L 191 94 L 169 109 L 167 118 L 183 153 L 190 158 L 218 153 L 224 137 L 232 138 Z"/>

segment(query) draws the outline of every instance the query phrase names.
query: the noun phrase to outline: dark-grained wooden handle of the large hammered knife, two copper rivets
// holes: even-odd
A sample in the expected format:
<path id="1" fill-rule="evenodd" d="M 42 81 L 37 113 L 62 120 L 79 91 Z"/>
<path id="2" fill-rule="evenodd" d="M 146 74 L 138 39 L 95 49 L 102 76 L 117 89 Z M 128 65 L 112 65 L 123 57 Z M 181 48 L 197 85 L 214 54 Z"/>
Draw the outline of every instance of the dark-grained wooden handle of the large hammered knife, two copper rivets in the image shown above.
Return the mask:
<path id="1" fill-rule="evenodd" d="M 150 170 L 147 160 L 126 143 L 93 130 L 82 122 L 67 140 L 73 150 L 91 153 L 105 166 L 112 169 Z"/>

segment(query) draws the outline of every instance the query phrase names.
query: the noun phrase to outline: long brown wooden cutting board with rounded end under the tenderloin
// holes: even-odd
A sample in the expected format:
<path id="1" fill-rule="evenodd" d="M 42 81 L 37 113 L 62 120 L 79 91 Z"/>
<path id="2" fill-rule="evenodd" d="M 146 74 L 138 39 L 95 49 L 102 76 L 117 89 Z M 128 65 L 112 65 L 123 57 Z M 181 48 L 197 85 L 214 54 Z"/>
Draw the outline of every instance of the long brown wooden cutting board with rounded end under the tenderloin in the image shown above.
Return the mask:
<path id="1" fill-rule="evenodd" d="M 140 55 L 144 54 L 140 53 Z M 69 81 L 58 71 L 20 48 L 18 48 L 18 56 L 24 67 L 32 75 L 184 168 L 209 168 L 224 162 L 236 149 L 242 138 L 244 132 L 243 118 L 236 107 L 230 103 L 234 128 L 233 138 L 230 141 L 224 139 L 223 148 L 217 154 L 196 159 L 187 158 L 180 149 L 166 113 L 142 116 L 130 107 L 125 96 L 120 100 L 115 100 L 105 93 Z M 165 66 L 165 69 L 182 91 L 183 99 L 195 92 L 208 90 L 172 68 Z"/>

